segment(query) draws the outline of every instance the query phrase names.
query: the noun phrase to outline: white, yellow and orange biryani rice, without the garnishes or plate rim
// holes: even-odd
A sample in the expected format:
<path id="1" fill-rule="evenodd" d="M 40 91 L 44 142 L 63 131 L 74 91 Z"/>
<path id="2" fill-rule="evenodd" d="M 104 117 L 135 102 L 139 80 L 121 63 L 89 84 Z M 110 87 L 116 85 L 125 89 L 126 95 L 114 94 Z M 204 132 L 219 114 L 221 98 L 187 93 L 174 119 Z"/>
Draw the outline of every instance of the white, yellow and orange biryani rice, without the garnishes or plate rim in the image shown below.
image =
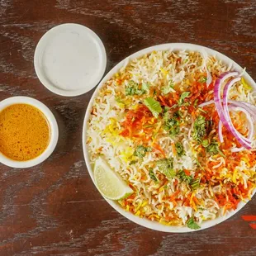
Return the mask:
<path id="1" fill-rule="evenodd" d="M 191 106 L 197 106 L 195 103 L 202 100 L 202 92 L 203 101 L 208 102 L 213 99 L 216 78 L 231 70 L 231 64 L 227 66 L 215 56 L 206 56 L 201 52 L 159 50 L 132 59 L 100 89 L 92 104 L 88 121 L 88 152 L 92 164 L 99 155 L 103 156 L 111 168 L 134 190 L 130 197 L 118 201 L 126 211 L 164 225 L 186 225 L 191 217 L 198 223 L 216 219 L 227 211 L 235 210 L 239 201 L 250 199 L 256 183 L 255 134 L 253 149 L 231 153 L 230 149 L 238 147 L 239 144 L 224 129 L 225 143 L 220 144 L 216 139 L 224 155 L 211 155 L 205 152 L 193 136 L 197 117 L 206 115 L 206 118 L 213 121 L 208 136 L 217 138 L 215 121 L 218 121 L 218 116 L 214 105 L 201 109 L 194 107 L 192 111 L 192 107 L 186 107 L 185 104 L 178 107 L 178 111 L 183 114 L 178 121 L 181 125 L 177 134 L 170 135 L 169 131 L 164 130 L 163 113 L 155 117 L 145 110 L 143 104 L 147 97 L 154 97 L 163 109 L 165 104 L 165 107 L 170 107 L 168 111 L 172 111 L 171 107 L 175 103 L 177 105 L 182 92 L 190 92 L 190 96 L 195 96 L 193 102 L 189 102 Z M 212 81 L 207 86 L 209 73 Z M 201 78 L 203 81 L 198 82 Z M 164 94 L 163 88 L 170 83 L 172 86 L 168 88 L 169 92 Z M 141 94 L 127 95 L 126 88 L 130 84 L 139 85 L 138 92 Z M 143 84 L 148 87 L 145 91 L 141 89 Z M 201 94 L 194 95 L 197 86 L 202 91 Z M 256 93 L 244 88 L 240 81 L 231 88 L 229 97 L 235 101 L 256 104 Z M 188 98 L 185 103 L 186 101 Z M 173 102 L 173 106 L 169 102 Z M 140 117 L 142 121 L 146 119 L 146 122 L 143 126 L 139 124 L 139 130 L 131 127 L 129 134 L 130 131 L 126 130 L 129 126 L 127 116 L 138 115 L 139 111 L 144 111 L 145 116 Z M 231 116 L 234 123 L 244 120 L 239 111 L 232 112 Z M 238 129 L 247 135 L 245 123 Z M 227 146 L 229 140 L 232 141 L 230 147 Z M 175 152 L 177 143 L 183 148 L 180 156 Z M 140 145 L 149 149 L 143 157 L 135 155 L 135 150 Z M 161 159 L 172 159 L 173 170 L 176 172 L 172 178 L 161 173 L 156 164 Z M 200 186 L 192 189 L 178 175 L 180 170 L 185 172 L 185 178 L 200 180 Z"/>

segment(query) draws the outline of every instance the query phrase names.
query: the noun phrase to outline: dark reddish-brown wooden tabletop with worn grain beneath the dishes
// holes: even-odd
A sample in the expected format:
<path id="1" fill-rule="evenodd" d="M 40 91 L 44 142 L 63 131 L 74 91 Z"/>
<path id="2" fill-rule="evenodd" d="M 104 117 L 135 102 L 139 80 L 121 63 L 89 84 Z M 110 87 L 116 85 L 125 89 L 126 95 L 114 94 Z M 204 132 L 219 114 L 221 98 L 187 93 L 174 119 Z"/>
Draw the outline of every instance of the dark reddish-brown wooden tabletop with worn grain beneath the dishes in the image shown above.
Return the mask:
<path id="1" fill-rule="evenodd" d="M 36 78 L 40 37 L 66 22 L 90 27 L 107 71 L 151 45 L 190 42 L 219 50 L 256 79 L 256 1 L 0 0 L 0 100 L 29 96 L 59 123 L 54 154 L 35 168 L 0 164 L 0 255 L 256 255 L 256 197 L 208 230 L 168 234 L 126 220 L 93 186 L 83 160 L 83 116 L 92 92 L 60 97 Z M 93 90 L 92 90 L 93 91 Z"/>

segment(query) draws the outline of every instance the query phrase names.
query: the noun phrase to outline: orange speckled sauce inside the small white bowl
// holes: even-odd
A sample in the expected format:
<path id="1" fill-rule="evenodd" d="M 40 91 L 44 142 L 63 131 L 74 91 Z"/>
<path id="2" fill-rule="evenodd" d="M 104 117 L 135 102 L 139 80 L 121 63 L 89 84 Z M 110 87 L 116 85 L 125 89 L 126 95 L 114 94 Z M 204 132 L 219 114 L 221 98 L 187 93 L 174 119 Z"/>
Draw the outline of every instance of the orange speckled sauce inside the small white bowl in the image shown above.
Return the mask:
<path id="1" fill-rule="evenodd" d="M 13 104 L 0 111 L 0 152 L 16 161 L 35 159 L 50 142 L 45 115 L 28 104 Z"/>

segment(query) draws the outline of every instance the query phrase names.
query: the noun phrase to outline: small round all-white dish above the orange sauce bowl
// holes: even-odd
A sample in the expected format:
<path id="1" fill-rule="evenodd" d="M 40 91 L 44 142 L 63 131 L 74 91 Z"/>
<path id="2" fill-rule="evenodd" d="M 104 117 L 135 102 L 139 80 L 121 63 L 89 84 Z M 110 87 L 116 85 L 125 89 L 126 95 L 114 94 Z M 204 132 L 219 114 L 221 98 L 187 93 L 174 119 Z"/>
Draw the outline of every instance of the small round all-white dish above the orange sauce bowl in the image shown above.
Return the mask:
<path id="1" fill-rule="evenodd" d="M 102 40 L 88 27 L 67 23 L 47 31 L 36 46 L 36 74 L 51 92 L 78 96 L 94 88 L 107 65 Z"/>

